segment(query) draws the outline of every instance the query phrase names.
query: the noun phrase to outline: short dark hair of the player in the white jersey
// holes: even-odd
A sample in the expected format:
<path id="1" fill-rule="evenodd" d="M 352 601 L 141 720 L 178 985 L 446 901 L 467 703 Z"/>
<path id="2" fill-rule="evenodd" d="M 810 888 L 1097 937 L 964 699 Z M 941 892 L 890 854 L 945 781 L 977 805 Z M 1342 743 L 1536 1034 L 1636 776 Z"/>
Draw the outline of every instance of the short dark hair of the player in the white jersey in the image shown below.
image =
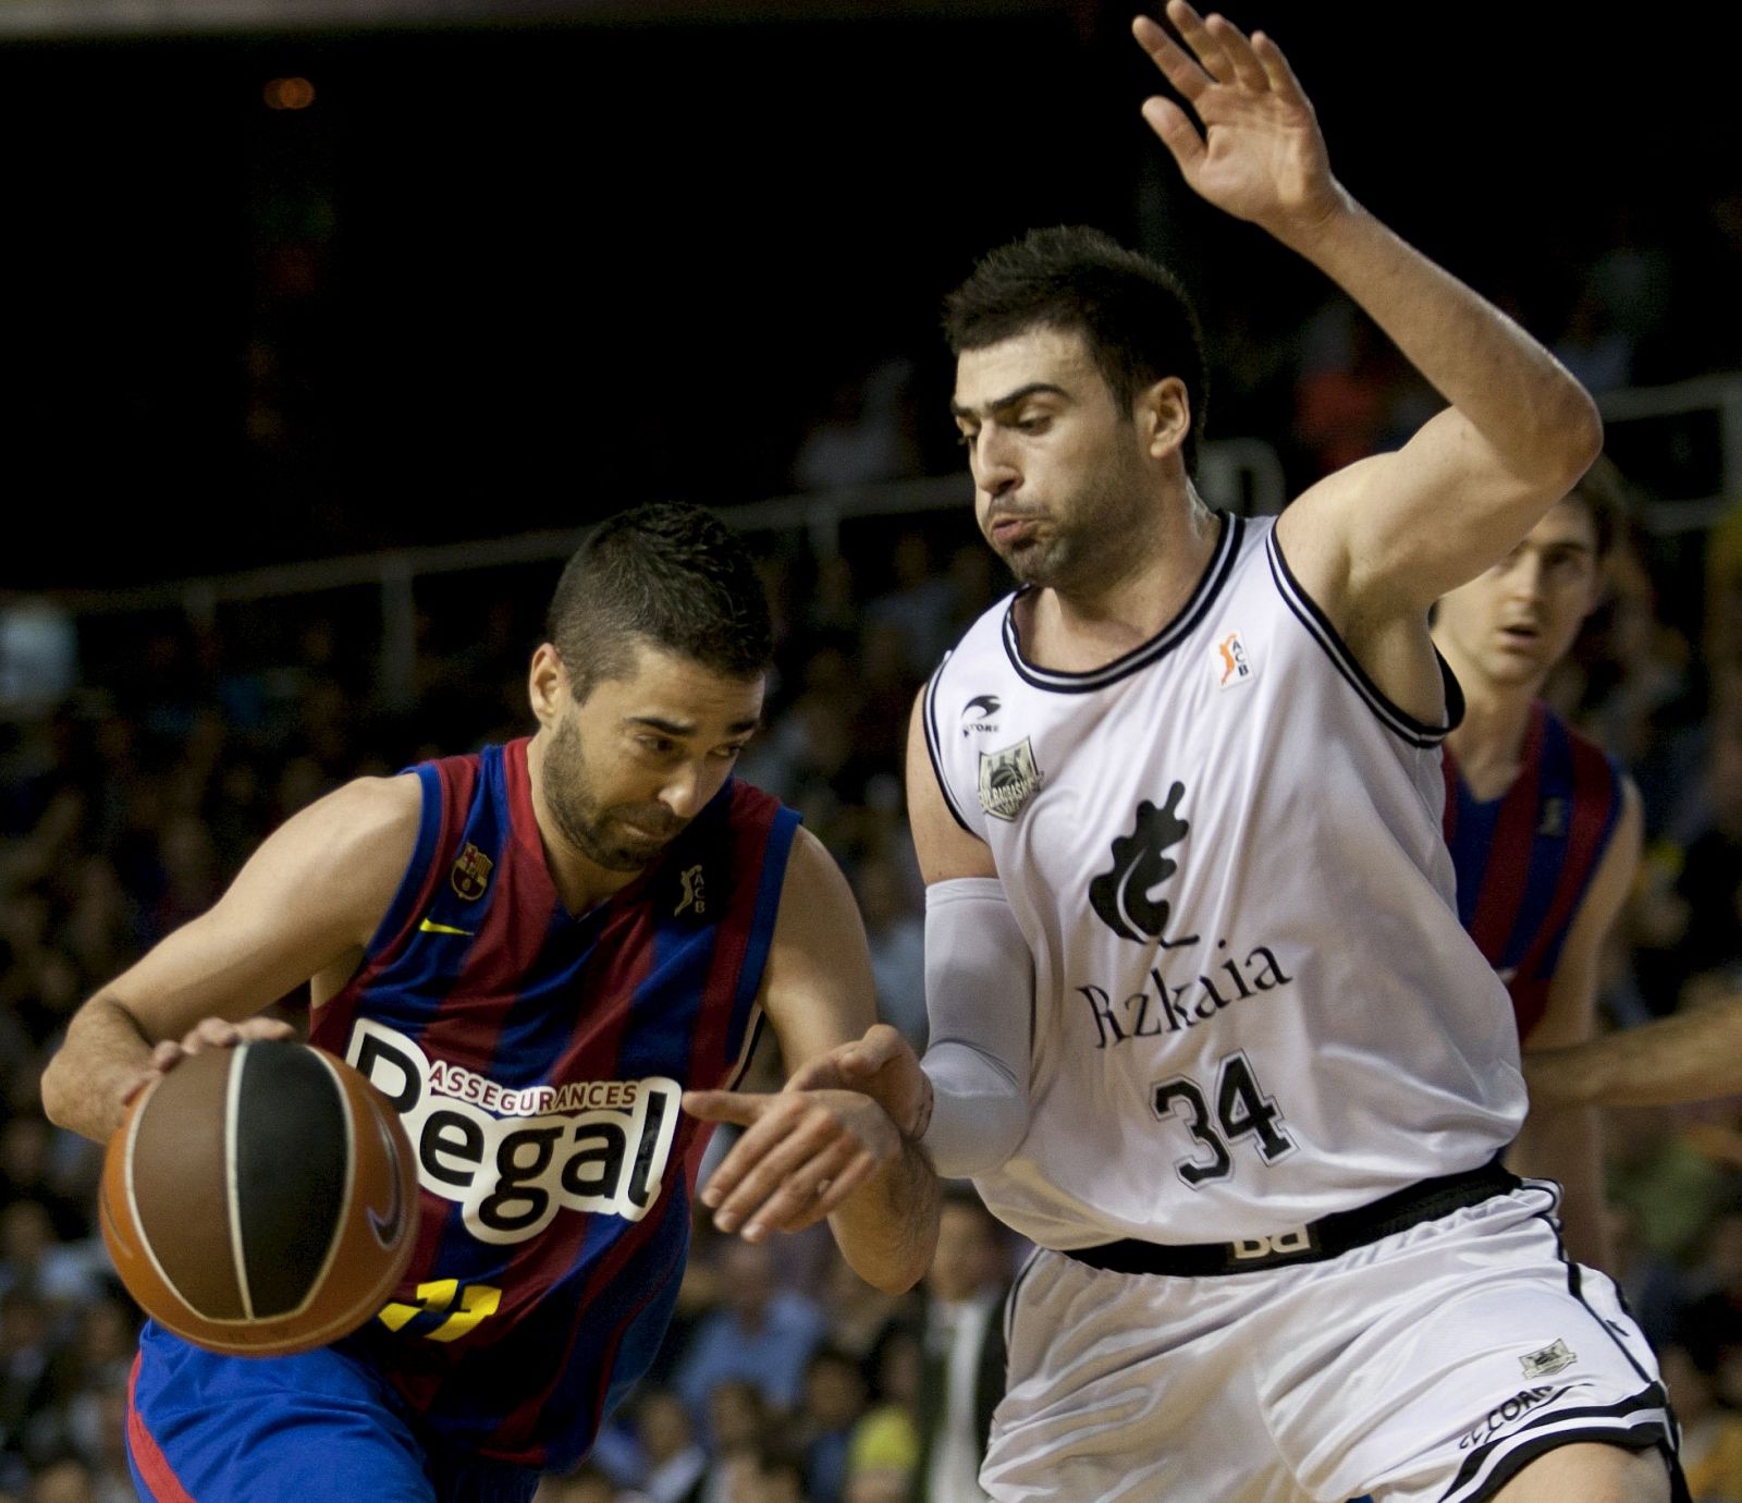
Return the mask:
<path id="1" fill-rule="evenodd" d="M 1050 328 L 1078 333 L 1120 411 L 1138 392 L 1179 377 L 1192 405 L 1183 457 L 1197 473 L 1209 378 L 1197 314 L 1179 279 L 1085 225 L 1030 230 L 988 251 L 944 298 L 951 354 Z"/>

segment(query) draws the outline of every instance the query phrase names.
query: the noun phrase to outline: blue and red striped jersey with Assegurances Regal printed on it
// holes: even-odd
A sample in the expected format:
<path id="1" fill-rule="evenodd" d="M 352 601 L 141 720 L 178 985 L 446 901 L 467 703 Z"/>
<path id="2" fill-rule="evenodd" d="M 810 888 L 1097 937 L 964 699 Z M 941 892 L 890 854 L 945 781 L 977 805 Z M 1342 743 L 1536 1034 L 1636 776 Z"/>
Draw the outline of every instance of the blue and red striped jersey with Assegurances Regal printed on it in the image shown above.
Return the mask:
<path id="1" fill-rule="evenodd" d="M 422 1221 L 350 1337 L 442 1437 L 568 1468 L 646 1370 L 711 1128 L 758 1022 L 798 816 L 728 781 L 634 882 L 563 908 L 526 743 L 416 769 L 416 854 L 312 1039 L 397 1107 Z"/>

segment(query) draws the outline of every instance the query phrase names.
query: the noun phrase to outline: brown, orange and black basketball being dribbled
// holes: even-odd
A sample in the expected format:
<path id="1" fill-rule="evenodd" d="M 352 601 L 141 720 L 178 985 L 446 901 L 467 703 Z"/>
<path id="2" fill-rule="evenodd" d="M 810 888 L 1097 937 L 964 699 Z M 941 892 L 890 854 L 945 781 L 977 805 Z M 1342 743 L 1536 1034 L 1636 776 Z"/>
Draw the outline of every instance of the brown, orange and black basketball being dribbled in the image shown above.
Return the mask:
<path id="1" fill-rule="evenodd" d="M 150 1316 L 213 1351 L 279 1357 L 380 1309 L 411 1259 L 418 1186 L 399 1118 L 350 1065 L 246 1043 L 134 1098 L 98 1212 Z"/>

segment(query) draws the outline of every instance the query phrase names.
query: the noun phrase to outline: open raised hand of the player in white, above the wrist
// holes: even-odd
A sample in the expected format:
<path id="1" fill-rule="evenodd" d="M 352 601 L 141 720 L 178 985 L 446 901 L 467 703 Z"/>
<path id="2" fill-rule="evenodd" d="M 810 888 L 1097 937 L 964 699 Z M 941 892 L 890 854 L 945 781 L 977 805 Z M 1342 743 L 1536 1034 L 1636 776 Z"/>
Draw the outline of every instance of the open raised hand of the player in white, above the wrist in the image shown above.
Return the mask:
<path id="1" fill-rule="evenodd" d="M 1284 242 L 1310 234 L 1343 197 L 1312 101 L 1282 49 L 1263 31 L 1247 38 L 1225 16 L 1204 19 L 1186 0 L 1169 0 L 1167 19 L 1185 47 L 1148 16 L 1131 30 L 1197 112 L 1204 134 L 1176 101 L 1160 96 L 1144 101 L 1143 119 L 1193 192 L 1218 209 Z"/>

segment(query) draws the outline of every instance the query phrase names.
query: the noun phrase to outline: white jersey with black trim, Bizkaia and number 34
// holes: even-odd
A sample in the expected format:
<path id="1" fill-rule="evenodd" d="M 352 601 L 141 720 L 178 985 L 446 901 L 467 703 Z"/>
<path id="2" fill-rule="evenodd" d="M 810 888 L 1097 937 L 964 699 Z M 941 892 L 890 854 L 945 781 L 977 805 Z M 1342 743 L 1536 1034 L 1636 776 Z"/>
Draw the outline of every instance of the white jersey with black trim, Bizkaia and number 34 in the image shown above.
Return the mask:
<path id="1" fill-rule="evenodd" d="M 1524 1083 L 1453 905 L 1449 727 L 1373 685 L 1273 521 L 1223 518 L 1174 622 L 1092 673 L 1026 661 L 1012 602 L 925 694 L 1035 956 L 1030 1130 L 986 1203 L 1054 1248 L 1232 1241 L 1505 1147 Z"/>

